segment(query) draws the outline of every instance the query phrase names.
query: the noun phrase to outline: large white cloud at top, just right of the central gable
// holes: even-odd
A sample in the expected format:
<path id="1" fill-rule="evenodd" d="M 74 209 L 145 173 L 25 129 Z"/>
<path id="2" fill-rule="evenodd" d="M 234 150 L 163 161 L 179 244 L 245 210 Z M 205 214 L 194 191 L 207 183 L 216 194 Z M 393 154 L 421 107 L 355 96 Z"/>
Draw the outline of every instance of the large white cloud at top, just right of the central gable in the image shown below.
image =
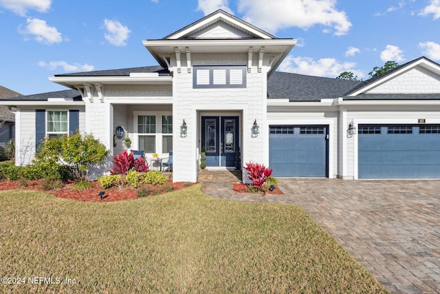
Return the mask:
<path id="1" fill-rule="evenodd" d="M 307 30 L 323 25 L 324 32 L 343 35 L 351 27 L 347 14 L 336 8 L 336 0 L 239 0 L 239 12 L 246 21 L 272 33 L 289 27 Z"/>

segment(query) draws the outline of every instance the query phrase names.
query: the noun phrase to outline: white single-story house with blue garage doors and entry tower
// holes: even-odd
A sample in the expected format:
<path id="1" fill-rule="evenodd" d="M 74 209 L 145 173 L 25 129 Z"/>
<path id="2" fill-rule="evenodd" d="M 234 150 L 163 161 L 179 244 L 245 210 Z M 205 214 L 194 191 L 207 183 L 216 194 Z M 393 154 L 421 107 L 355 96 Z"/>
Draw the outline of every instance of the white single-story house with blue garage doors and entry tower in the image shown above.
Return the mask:
<path id="1" fill-rule="evenodd" d="M 174 181 L 197 181 L 202 150 L 208 168 L 278 177 L 440 178 L 440 65 L 425 57 L 364 82 L 275 72 L 296 40 L 222 10 L 143 43 L 158 66 L 58 74 L 72 90 L 1 101 L 17 107 L 17 165 L 79 129 L 112 154 L 123 136 L 147 158 L 173 150 Z"/>

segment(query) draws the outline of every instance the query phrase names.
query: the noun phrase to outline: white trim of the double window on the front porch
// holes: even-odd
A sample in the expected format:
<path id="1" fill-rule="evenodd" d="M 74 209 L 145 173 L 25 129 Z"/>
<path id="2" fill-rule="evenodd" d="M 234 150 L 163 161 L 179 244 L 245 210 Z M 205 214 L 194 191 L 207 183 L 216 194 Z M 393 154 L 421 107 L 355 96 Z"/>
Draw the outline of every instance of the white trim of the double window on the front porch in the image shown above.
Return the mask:
<path id="1" fill-rule="evenodd" d="M 155 133 L 139 133 L 137 128 L 137 120 L 138 116 L 155 116 L 156 117 L 156 132 Z M 166 153 L 162 152 L 162 138 L 164 136 L 173 136 L 174 135 L 174 128 L 173 125 L 173 132 L 171 134 L 163 134 L 162 133 L 162 116 L 173 116 L 173 112 L 164 112 L 164 111 L 135 111 L 133 112 L 133 143 L 131 144 L 131 149 L 137 150 L 139 148 L 139 136 L 155 136 L 155 152 L 159 154 L 159 157 L 166 157 L 168 156 L 168 151 Z M 174 120 L 173 120 L 174 122 Z M 153 153 L 146 152 L 145 153 L 148 158 L 151 158 L 153 156 Z"/>

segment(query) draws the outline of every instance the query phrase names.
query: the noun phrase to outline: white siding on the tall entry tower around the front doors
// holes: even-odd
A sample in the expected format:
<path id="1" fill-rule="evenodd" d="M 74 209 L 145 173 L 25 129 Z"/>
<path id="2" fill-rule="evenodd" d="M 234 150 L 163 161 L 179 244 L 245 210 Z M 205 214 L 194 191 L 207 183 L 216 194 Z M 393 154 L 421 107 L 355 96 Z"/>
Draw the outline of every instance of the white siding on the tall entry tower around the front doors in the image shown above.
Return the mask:
<path id="1" fill-rule="evenodd" d="M 172 61 L 173 62 L 173 61 Z M 185 63 L 182 63 L 185 64 Z M 247 54 L 192 54 L 193 65 L 247 65 Z M 254 64 L 258 64 L 255 62 Z M 174 61 L 175 65 L 175 61 Z M 170 69 L 173 70 L 173 69 Z M 261 128 L 256 138 L 251 136 L 251 127 L 254 120 L 263 126 L 266 123 L 266 85 L 267 70 L 264 67 L 259 73 L 256 67 L 247 72 L 247 86 L 245 88 L 228 89 L 193 89 L 192 74 L 181 70 L 177 74 L 174 70 L 173 78 L 173 145 L 174 171 L 173 180 L 192 181 L 197 180 L 197 158 L 199 154 L 199 113 L 200 112 L 226 112 L 241 113 L 241 160 L 242 162 L 261 162 L 267 165 L 268 132 Z M 185 120 L 188 125 L 188 136 L 179 136 L 179 126 Z"/>

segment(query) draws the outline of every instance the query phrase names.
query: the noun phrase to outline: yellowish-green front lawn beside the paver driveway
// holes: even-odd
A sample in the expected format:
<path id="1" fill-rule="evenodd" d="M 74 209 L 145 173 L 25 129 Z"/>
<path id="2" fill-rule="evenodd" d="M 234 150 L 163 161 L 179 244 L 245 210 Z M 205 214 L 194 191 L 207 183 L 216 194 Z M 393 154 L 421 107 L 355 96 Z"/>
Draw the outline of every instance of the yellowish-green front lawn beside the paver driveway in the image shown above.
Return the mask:
<path id="1" fill-rule="evenodd" d="M 106 203 L 3 191 L 0 207 L 0 275 L 25 277 L 0 292 L 387 293 L 294 205 L 195 185 Z"/>

